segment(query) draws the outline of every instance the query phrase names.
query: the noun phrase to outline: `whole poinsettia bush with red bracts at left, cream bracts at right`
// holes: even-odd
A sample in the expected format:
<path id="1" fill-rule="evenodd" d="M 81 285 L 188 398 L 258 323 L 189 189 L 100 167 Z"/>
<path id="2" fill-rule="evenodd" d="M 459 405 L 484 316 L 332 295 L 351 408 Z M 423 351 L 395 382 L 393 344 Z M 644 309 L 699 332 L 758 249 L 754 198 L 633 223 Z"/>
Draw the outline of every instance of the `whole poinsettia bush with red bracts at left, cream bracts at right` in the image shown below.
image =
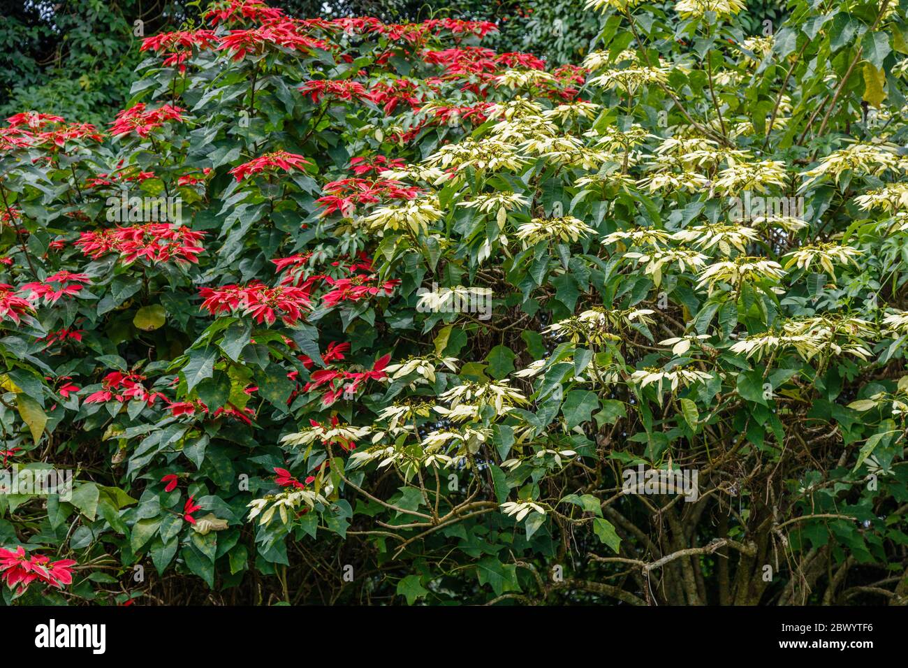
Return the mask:
<path id="1" fill-rule="evenodd" d="M 229 0 L 8 119 L 6 603 L 908 601 L 904 3 L 588 5 Z"/>

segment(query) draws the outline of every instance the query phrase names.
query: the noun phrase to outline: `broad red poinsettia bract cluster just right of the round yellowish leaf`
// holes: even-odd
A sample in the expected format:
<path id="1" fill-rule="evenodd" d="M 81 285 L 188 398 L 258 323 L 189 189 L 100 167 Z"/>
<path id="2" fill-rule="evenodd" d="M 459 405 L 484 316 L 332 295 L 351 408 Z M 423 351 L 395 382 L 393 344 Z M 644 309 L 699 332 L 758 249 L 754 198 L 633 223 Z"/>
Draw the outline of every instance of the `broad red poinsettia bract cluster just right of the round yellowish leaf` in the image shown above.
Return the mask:
<path id="1" fill-rule="evenodd" d="M 285 324 L 294 324 L 300 320 L 303 311 L 310 308 L 309 290 L 292 285 L 270 287 L 253 281 L 248 285 L 203 287 L 199 294 L 205 300 L 202 309 L 212 315 L 252 315 L 258 324 L 274 324 L 279 316 Z"/>

